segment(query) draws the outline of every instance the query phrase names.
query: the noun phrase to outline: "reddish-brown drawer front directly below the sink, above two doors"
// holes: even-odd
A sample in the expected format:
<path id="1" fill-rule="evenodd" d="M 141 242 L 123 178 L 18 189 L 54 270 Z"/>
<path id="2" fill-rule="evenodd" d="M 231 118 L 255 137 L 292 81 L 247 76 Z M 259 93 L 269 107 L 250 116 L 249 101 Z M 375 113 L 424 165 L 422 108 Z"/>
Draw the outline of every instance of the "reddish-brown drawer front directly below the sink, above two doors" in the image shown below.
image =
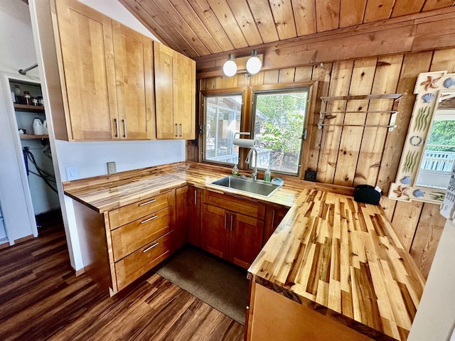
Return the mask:
<path id="1" fill-rule="evenodd" d="M 236 197 L 204 190 L 204 203 L 264 220 L 265 204 L 246 197 Z"/>

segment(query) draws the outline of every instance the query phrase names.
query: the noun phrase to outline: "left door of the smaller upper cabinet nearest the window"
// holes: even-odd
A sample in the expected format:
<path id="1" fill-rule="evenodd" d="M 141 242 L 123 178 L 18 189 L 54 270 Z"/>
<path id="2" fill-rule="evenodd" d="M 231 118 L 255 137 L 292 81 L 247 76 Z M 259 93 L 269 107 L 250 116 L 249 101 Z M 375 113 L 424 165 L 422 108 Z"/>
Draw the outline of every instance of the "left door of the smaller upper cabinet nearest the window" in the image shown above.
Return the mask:
<path id="1" fill-rule="evenodd" d="M 156 138 L 177 139 L 178 123 L 173 117 L 173 54 L 174 51 L 154 43 Z"/>

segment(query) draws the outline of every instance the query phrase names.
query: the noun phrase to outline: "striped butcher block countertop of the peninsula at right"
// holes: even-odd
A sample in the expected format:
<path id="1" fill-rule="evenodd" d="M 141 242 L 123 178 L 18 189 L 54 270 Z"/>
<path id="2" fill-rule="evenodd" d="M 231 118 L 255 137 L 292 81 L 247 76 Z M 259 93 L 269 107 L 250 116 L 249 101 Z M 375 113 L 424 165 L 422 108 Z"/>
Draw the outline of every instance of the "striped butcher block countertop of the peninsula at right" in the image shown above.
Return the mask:
<path id="1" fill-rule="evenodd" d="M 302 190 L 248 276 L 373 340 L 406 340 L 424 278 L 382 209 Z"/>

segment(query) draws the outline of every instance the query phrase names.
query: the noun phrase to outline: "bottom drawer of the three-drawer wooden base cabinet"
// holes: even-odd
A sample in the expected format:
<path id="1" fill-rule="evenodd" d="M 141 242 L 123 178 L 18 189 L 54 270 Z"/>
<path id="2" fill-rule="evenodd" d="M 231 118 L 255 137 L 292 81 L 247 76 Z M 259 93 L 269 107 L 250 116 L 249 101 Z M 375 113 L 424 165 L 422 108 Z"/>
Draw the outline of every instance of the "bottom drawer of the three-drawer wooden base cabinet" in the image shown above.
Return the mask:
<path id="1" fill-rule="evenodd" d="M 173 231 L 146 244 L 115 263 L 117 290 L 122 290 L 129 283 L 139 278 L 151 268 L 172 254 Z"/>

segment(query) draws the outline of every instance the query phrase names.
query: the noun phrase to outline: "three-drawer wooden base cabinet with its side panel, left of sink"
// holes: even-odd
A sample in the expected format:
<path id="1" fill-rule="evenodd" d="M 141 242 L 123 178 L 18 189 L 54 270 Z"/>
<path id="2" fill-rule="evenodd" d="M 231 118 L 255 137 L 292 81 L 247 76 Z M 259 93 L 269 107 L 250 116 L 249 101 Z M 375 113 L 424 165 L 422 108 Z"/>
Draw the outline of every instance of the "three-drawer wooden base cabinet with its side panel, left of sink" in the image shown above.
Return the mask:
<path id="1" fill-rule="evenodd" d="M 75 202 L 85 272 L 111 296 L 186 241 L 185 224 L 176 224 L 175 193 L 169 190 L 101 215 Z"/>

